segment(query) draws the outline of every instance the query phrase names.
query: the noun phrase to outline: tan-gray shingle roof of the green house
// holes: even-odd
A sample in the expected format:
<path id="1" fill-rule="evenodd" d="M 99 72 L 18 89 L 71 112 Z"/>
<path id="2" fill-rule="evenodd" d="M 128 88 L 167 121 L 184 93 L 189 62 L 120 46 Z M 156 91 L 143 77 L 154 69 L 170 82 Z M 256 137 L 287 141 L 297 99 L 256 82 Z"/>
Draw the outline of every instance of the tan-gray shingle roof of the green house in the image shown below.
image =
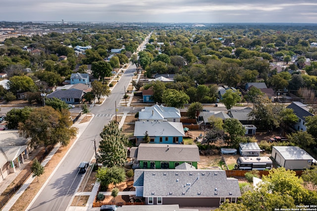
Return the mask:
<path id="1" fill-rule="evenodd" d="M 138 160 L 200 161 L 197 145 L 140 144 Z"/>

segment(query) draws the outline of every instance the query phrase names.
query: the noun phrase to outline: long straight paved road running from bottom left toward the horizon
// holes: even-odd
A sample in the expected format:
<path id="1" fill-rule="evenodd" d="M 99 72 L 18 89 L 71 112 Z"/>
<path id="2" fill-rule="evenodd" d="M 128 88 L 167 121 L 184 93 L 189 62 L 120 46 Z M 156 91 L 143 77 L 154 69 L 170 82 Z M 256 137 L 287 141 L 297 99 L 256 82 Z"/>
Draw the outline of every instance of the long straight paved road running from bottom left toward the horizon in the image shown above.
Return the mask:
<path id="1" fill-rule="evenodd" d="M 115 103 L 118 104 L 136 71 L 135 65 L 130 65 L 112 89 L 111 95 L 102 106 L 95 106 L 91 112 L 95 117 L 91 120 L 83 134 L 72 146 L 69 154 L 60 163 L 49 183 L 40 196 L 31 205 L 30 211 L 64 211 L 83 175 L 77 174 L 77 167 L 82 161 L 89 161 L 95 154 L 94 141 L 98 145 L 100 132 L 115 114 Z"/>

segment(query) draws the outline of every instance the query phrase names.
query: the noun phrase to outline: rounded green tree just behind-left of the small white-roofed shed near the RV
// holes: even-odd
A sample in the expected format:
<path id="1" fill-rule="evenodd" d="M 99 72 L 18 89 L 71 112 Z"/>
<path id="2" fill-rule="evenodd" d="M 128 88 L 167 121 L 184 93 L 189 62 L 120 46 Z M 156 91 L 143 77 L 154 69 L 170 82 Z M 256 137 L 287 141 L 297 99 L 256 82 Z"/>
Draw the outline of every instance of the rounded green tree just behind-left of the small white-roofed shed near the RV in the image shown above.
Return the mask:
<path id="1" fill-rule="evenodd" d="M 246 133 L 245 127 L 238 119 L 229 118 L 224 120 L 223 128 L 230 135 L 230 142 L 227 141 L 227 145 L 237 147 Z"/>

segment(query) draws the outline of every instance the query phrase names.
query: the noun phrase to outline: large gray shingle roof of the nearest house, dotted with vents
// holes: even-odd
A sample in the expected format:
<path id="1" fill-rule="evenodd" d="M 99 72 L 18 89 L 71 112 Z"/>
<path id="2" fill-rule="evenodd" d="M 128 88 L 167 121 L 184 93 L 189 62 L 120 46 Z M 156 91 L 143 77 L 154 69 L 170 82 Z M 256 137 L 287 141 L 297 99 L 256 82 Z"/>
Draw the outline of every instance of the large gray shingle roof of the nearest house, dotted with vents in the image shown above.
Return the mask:
<path id="1" fill-rule="evenodd" d="M 134 182 L 144 187 L 143 197 L 241 196 L 238 180 L 227 178 L 224 170 L 136 169 Z"/>

